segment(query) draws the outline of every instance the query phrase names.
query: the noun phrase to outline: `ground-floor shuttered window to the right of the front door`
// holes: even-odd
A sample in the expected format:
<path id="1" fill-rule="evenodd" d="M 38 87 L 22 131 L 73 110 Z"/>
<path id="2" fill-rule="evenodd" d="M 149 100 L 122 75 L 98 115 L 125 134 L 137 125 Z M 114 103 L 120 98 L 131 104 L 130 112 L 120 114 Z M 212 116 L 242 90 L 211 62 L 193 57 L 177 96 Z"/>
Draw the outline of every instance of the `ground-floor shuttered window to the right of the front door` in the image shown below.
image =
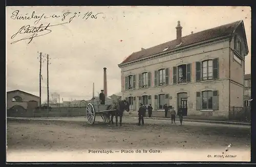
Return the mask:
<path id="1" fill-rule="evenodd" d="M 196 92 L 196 109 L 219 110 L 218 90 Z"/>

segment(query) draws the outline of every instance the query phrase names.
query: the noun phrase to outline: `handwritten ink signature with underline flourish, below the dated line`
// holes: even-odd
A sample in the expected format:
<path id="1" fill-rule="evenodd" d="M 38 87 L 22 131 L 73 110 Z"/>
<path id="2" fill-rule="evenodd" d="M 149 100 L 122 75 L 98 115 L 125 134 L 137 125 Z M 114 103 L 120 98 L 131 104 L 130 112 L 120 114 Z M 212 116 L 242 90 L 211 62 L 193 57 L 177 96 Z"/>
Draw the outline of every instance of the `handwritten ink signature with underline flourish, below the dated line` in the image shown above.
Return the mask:
<path id="1" fill-rule="evenodd" d="M 27 37 L 15 40 L 13 42 L 11 42 L 11 44 L 14 44 L 16 42 L 22 41 L 22 40 L 26 40 L 26 39 L 30 39 L 28 44 L 32 41 L 33 38 L 35 37 L 39 37 L 39 36 L 44 36 L 46 34 L 49 34 L 52 32 L 52 30 L 49 30 L 49 27 L 53 27 L 53 26 L 59 26 L 59 25 L 63 25 L 66 24 L 68 22 L 64 22 L 64 23 L 59 23 L 57 25 L 51 25 L 50 23 L 48 23 L 47 26 L 43 26 L 42 24 L 39 27 L 33 27 L 30 25 L 27 26 L 23 26 L 21 27 L 15 34 L 13 34 L 11 36 L 11 39 L 14 39 L 18 34 L 31 34 Z"/>

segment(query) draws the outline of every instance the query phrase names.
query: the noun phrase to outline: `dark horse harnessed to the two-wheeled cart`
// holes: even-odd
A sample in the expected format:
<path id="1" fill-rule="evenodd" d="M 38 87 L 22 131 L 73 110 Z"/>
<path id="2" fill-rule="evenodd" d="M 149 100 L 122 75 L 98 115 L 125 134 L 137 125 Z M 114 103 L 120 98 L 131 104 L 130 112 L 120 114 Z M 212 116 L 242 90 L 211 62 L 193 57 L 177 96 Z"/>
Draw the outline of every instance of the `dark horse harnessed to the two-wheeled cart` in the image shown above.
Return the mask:
<path id="1" fill-rule="evenodd" d="M 116 117 L 115 125 L 118 126 L 117 123 L 118 123 L 118 116 L 119 116 L 120 126 L 122 126 L 123 111 L 124 110 L 126 110 L 127 112 L 130 111 L 130 103 L 127 102 L 126 100 L 120 100 L 118 102 L 112 103 L 111 105 L 108 105 L 106 110 L 113 110 L 108 114 L 108 120 L 110 120 L 109 124 L 112 124 L 112 125 L 114 124 L 113 118 L 115 116 Z"/>

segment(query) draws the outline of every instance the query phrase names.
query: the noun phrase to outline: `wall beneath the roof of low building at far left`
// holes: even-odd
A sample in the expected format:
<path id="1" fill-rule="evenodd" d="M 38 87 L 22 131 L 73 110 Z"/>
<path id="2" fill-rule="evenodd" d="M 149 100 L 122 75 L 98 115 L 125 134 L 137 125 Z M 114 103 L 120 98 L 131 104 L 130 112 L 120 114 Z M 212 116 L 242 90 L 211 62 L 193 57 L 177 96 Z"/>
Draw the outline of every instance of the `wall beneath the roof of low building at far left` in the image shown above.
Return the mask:
<path id="1" fill-rule="evenodd" d="M 22 103 L 12 102 L 12 98 L 15 97 L 15 96 L 21 97 L 23 102 Z M 14 105 L 20 105 L 20 106 L 23 106 L 26 109 L 28 101 L 34 100 L 34 101 L 39 102 L 39 97 L 31 96 L 31 95 L 29 95 L 29 94 L 27 94 L 25 92 L 22 92 L 22 91 L 14 91 L 14 92 L 7 92 L 6 100 L 7 100 L 7 109 L 11 108 Z"/>

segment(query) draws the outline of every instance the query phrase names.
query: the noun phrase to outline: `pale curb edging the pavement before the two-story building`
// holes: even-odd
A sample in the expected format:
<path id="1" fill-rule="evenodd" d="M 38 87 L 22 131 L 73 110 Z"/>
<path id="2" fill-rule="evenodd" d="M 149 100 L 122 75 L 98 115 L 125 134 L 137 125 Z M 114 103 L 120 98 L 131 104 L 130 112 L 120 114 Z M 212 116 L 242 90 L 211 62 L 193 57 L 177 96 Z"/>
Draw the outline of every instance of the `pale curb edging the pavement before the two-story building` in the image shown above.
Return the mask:
<path id="1" fill-rule="evenodd" d="M 129 118 L 136 118 L 138 116 L 124 116 Z M 144 119 L 148 120 L 171 120 L 170 118 L 163 118 L 163 117 L 144 117 Z M 228 121 L 208 121 L 208 120 L 189 120 L 189 119 L 183 119 L 183 121 L 188 122 L 201 122 L 201 123 L 215 123 L 215 124 L 230 124 L 230 125 L 247 125 L 251 126 L 251 123 L 241 123 L 241 122 L 228 122 Z"/>

